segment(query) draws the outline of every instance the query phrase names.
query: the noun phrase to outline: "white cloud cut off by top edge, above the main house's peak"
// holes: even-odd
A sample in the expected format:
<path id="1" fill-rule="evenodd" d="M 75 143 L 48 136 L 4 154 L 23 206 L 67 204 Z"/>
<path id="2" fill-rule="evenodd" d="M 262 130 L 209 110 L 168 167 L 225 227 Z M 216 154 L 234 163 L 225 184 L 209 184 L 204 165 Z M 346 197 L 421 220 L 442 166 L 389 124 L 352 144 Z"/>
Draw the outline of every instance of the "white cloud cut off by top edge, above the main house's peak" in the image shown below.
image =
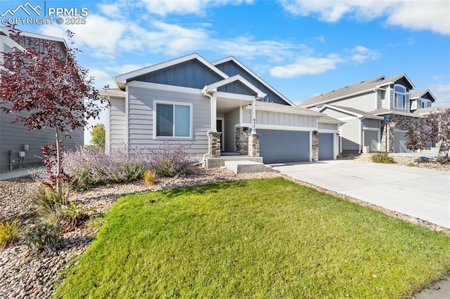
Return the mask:
<path id="1" fill-rule="evenodd" d="M 206 15 L 207 8 L 225 6 L 227 4 L 252 4 L 253 0 L 142 0 L 149 13 L 167 15 Z"/>

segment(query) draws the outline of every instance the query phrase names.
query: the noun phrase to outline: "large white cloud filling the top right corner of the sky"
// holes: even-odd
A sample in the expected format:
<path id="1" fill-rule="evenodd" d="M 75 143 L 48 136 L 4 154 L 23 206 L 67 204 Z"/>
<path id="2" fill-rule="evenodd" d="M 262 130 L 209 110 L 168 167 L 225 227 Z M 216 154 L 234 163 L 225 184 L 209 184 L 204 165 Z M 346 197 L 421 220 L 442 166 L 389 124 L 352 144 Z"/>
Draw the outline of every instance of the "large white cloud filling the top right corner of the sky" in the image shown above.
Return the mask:
<path id="1" fill-rule="evenodd" d="M 450 2 L 446 0 L 278 0 L 293 15 L 319 15 L 325 22 L 385 18 L 388 25 L 450 34 Z"/>

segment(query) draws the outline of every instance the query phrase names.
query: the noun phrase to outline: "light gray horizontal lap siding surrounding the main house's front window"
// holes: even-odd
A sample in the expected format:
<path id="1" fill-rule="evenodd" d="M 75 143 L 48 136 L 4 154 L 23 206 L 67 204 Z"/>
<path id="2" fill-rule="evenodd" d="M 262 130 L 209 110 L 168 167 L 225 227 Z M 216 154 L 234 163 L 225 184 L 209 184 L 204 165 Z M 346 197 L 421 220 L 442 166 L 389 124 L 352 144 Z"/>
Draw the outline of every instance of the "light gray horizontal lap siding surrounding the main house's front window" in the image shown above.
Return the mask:
<path id="1" fill-rule="evenodd" d="M 208 152 L 207 131 L 211 128 L 210 102 L 198 91 L 184 93 L 161 89 L 128 86 L 128 142 L 129 148 L 155 149 L 165 142 L 173 145 L 188 145 L 188 150 L 196 157 Z M 153 101 L 184 102 L 192 104 L 192 138 L 157 138 L 153 139 L 155 128 L 153 119 Z"/>

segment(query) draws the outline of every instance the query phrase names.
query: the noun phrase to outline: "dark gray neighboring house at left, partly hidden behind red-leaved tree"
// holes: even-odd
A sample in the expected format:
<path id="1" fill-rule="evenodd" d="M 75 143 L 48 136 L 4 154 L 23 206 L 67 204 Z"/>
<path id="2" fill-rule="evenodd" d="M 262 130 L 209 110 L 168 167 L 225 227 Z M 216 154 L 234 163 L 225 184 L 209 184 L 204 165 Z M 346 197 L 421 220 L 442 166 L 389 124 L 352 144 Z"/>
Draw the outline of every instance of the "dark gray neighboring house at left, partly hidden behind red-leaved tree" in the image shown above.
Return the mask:
<path id="1" fill-rule="evenodd" d="M 30 32 L 22 32 L 22 34 L 25 36 L 25 43 L 18 44 L 15 36 L 11 35 L 8 28 L 0 27 L 0 52 L 9 52 L 13 48 L 24 51 L 25 48 L 30 48 L 32 41 L 37 41 L 37 45 L 43 41 L 54 41 L 59 51 L 65 51 L 65 48 L 67 48 L 64 39 Z M 1 55 L 0 59 L 3 59 Z M 30 132 L 23 123 L 11 124 L 14 119 L 14 115 L 0 112 L 0 172 L 43 165 L 40 158 L 40 149 L 44 145 L 51 145 L 56 139 L 55 132 L 52 129 L 47 128 Z M 82 130 L 74 131 L 70 135 L 72 138 L 63 139 L 65 150 L 75 150 L 76 145 L 84 144 Z"/>

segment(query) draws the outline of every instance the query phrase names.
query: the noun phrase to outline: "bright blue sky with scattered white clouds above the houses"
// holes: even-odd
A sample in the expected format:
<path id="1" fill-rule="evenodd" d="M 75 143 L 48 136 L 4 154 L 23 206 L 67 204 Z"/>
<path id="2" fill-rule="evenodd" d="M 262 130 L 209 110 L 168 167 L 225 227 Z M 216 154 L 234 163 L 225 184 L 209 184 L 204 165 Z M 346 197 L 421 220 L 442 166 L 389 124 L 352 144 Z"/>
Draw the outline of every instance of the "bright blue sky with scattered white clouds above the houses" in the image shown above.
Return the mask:
<path id="1" fill-rule="evenodd" d="M 20 21 L 18 29 L 63 38 L 70 29 L 79 65 L 98 88 L 198 53 L 210 62 L 233 55 L 295 104 L 397 74 L 413 91 L 430 89 L 435 105 L 450 104 L 447 0 L 1 0 L 0 14 L 27 2 L 40 13 L 28 9 L 34 22 L 53 22 Z M 28 15 L 19 9 L 13 17 Z"/>

